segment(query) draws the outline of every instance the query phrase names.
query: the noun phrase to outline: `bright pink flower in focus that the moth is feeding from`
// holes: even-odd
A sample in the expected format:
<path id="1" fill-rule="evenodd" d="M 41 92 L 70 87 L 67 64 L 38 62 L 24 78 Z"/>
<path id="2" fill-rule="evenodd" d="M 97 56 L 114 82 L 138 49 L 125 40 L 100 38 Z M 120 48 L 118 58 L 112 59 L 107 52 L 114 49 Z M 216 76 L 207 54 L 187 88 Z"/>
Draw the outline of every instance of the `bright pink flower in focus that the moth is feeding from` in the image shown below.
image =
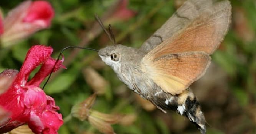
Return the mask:
<path id="1" fill-rule="evenodd" d="M 55 101 L 39 87 L 40 83 L 50 74 L 56 60 L 51 58 L 51 47 L 36 45 L 30 48 L 20 72 L 5 70 L 1 75 L 15 76 L 12 85 L 0 95 L 0 106 L 10 112 L 10 116 L 0 123 L 0 132 L 8 132 L 27 123 L 36 134 L 57 134 L 63 124 L 59 107 Z M 64 59 L 59 60 L 54 71 L 64 66 Z M 30 73 L 41 65 L 40 70 L 27 82 Z"/>

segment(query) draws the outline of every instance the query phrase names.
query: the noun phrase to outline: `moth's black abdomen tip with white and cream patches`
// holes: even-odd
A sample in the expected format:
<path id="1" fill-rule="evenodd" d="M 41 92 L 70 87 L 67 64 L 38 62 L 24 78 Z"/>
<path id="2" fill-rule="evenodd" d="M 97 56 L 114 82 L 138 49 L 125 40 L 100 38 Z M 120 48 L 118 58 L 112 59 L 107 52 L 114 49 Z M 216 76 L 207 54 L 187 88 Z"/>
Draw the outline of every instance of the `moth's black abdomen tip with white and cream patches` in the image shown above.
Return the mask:
<path id="1" fill-rule="evenodd" d="M 154 98 L 151 100 L 157 107 L 163 111 L 173 110 L 177 113 L 186 116 L 192 123 L 194 123 L 201 134 L 206 133 L 205 116 L 201 111 L 200 104 L 197 97 L 190 89 L 185 90 L 179 95 L 171 95 L 165 92 L 156 92 Z"/>

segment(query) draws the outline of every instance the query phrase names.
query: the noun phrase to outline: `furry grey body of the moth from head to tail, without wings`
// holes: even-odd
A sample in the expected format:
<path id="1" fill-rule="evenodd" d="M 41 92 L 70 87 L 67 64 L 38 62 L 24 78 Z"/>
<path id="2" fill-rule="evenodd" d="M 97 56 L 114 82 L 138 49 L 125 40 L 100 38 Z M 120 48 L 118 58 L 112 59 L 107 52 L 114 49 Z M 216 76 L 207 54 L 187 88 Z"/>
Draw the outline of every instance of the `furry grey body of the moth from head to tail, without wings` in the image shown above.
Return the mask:
<path id="1" fill-rule="evenodd" d="M 111 54 L 121 51 L 122 55 L 125 56 L 120 56 L 119 60 L 122 61 L 122 64 L 107 59 Z M 131 90 L 138 93 L 142 98 L 152 102 L 164 113 L 166 113 L 166 110 L 174 110 L 183 116 L 187 116 L 190 121 L 198 126 L 201 133 L 205 133 L 205 117 L 201 112 L 197 98 L 191 90 L 187 89 L 180 95 L 171 95 L 170 93 L 164 92 L 141 70 L 142 67 L 140 64 L 145 54 L 147 53 L 140 49 L 123 45 L 108 46 L 99 51 L 101 59 L 116 72 L 117 77 Z"/>

